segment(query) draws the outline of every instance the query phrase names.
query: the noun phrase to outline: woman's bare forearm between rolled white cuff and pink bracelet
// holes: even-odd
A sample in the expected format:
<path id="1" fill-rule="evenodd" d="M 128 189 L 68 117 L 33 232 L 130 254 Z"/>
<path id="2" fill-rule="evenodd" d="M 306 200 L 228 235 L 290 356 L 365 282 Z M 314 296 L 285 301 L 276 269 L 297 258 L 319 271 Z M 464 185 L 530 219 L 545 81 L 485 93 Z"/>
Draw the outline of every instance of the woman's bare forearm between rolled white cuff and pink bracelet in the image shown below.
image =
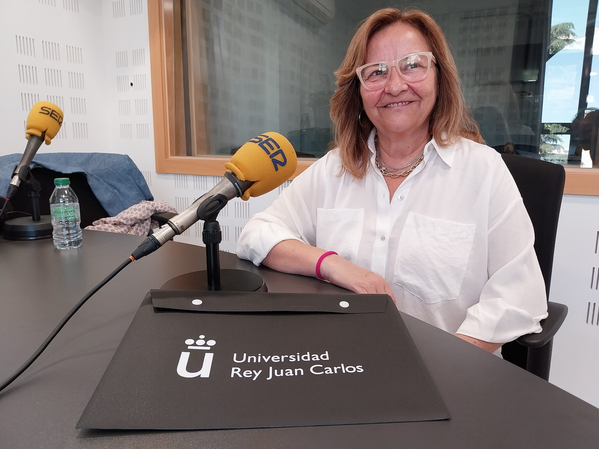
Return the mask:
<path id="1" fill-rule="evenodd" d="M 262 265 L 284 273 L 315 276 L 316 262 L 324 252 L 299 240 L 283 240 L 274 245 Z"/>

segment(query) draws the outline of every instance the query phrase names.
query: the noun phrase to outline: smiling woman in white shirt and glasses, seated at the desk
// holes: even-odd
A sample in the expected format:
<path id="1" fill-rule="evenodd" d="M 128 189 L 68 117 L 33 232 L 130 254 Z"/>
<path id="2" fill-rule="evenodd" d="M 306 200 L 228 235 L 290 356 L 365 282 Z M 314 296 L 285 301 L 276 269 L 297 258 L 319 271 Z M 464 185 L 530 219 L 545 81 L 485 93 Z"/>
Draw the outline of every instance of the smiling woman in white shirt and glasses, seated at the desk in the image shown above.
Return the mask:
<path id="1" fill-rule="evenodd" d="M 376 11 L 335 75 L 337 148 L 247 223 L 238 256 L 386 293 L 490 352 L 540 332 L 530 218 L 501 156 L 481 143 L 437 23 Z"/>

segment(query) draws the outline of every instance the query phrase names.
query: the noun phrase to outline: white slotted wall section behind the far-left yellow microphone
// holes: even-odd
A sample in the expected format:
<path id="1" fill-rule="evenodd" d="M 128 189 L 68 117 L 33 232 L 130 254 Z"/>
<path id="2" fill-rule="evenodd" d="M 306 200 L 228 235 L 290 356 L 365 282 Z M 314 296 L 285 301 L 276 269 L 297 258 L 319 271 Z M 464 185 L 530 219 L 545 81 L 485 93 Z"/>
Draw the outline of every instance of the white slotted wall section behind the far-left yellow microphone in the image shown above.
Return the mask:
<path id="1" fill-rule="evenodd" d="M 60 132 L 40 152 L 106 151 L 104 28 L 99 0 L 2 2 L 0 154 L 25 148 L 25 119 L 40 100 L 64 112 Z"/>

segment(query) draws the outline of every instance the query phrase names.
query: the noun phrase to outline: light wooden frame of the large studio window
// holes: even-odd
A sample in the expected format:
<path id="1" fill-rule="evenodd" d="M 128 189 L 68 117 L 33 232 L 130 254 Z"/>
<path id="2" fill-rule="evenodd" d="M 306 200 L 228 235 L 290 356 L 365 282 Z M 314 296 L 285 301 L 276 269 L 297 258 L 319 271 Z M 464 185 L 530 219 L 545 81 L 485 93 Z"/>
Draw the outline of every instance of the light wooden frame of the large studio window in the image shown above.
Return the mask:
<path id="1" fill-rule="evenodd" d="M 185 1 L 185 0 L 182 0 Z M 186 175 L 210 175 L 222 176 L 225 172 L 224 163 L 228 160 L 226 156 L 176 156 L 175 148 L 176 135 L 181 136 L 185 132 L 181 129 L 181 123 L 184 120 L 174 120 L 177 111 L 174 108 L 174 98 L 181 95 L 181 83 L 174 83 L 175 73 L 179 67 L 179 61 L 174 58 L 176 55 L 169 54 L 166 49 L 174 45 L 174 33 L 172 26 L 165 26 L 165 16 L 173 15 L 173 0 L 147 0 L 149 37 L 150 37 L 150 72 L 152 77 L 152 110 L 154 119 L 154 147 L 156 156 L 157 173 L 176 173 Z M 180 30 L 179 30 L 180 32 Z M 190 32 L 189 30 L 187 31 Z M 191 40 L 193 41 L 193 39 Z M 193 104 L 202 104 L 201 98 L 201 80 L 190 80 L 195 92 L 195 96 L 190 100 Z M 198 85 L 199 83 L 199 85 Z M 192 87 L 193 87 L 192 86 Z M 176 88 L 179 90 L 176 92 Z M 206 103 L 203 102 L 205 105 Z M 195 108 L 192 113 L 192 120 L 201 123 L 202 117 L 195 117 Z M 207 116 L 207 108 L 204 107 L 204 117 Z M 207 117 L 202 125 L 204 135 L 207 134 Z M 193 128 L 192 139 L 195 142 L 195 154 L 205 154 L 207 142 L 202 144 L 201 133 L 196 135 L 196 129 Z M 207 136 L 206 138 L 207 139 Z M 202 145 L 204 145 L 202 147 Z M 294 178 L 302 171 L 307 169 L 316 158 L 299 158 L 298 168 Z M 592 195 L 599 196 L 599 169 L 597 168 L 578 168 L 564 166 L 565 168 L 565 187 L 564 193 L 567 195 Z"/>

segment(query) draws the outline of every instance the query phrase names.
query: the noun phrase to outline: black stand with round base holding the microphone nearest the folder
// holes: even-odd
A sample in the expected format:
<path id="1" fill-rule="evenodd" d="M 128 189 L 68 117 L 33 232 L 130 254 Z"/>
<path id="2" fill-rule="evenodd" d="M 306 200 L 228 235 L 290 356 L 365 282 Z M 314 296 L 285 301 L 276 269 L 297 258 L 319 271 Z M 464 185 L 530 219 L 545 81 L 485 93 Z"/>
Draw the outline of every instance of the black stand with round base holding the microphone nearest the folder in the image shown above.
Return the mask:
<path id="1" fill-rule="evenodd" d="M 227 204 L 222 193 L 208 196 L 197 210 L 204 220 L 202 242 L 206 245 L 206 269 L 183 274 L 167 281 L 164 290 L 208 290 L 220 292 L 268 292 L 261 275 L 238 269 L 220 269 L 219 245 L 222 242 L 219 212 Z"/>

